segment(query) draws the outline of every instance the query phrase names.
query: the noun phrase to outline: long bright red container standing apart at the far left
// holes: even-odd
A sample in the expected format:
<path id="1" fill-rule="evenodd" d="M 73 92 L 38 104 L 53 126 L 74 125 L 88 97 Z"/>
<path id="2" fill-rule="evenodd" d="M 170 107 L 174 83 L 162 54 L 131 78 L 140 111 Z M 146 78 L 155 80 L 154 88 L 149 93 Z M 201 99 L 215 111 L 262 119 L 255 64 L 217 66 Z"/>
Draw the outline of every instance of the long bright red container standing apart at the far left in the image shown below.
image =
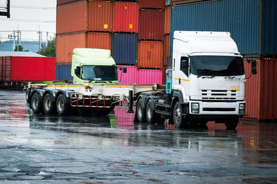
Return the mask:
<path id="1" fill-rule="evenodd" d="M 54 81 L 55 58 L 0 57 L 0 70 L 4 82 Z"/>

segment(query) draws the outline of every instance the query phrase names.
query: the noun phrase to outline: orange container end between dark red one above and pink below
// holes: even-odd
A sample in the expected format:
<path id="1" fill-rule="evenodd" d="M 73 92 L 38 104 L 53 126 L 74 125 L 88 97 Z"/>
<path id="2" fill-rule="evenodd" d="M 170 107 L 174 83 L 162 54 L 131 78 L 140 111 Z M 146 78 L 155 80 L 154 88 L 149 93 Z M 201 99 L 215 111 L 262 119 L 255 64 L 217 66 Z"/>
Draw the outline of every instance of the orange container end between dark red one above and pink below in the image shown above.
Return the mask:
<path id="1" fill-rule="evenodd" d="M 163 68 L 163 42 L 139 42 L 138 68 Z"/>

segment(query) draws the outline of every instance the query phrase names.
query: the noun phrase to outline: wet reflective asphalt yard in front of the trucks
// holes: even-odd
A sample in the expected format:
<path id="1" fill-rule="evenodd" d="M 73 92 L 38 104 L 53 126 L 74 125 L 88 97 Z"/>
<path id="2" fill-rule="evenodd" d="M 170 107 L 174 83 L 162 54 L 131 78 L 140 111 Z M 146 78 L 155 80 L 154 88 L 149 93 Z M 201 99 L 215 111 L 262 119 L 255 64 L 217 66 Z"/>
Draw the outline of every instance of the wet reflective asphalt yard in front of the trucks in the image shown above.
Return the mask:
<path id="1" fill-rule="evenodd" d="M 277 183 L 277 123 L 175 130 L 126 111 L 34 115 L 0 90 L 0 183 Z"/>

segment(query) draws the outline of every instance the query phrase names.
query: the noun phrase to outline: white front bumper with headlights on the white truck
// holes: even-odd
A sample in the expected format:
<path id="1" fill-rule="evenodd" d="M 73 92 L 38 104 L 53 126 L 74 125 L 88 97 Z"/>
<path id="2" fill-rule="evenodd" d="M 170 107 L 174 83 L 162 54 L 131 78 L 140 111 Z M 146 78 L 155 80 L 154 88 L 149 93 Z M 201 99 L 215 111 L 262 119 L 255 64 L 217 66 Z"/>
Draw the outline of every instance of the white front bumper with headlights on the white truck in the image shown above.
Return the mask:
<path id="1" fill-rule="evenodd" d="M 194 110 L 199 104 L 199 110 Z M 244 105 L 240 105 L 244 104 Z M 235 102 L 214 102 L 214 101 L 190 101 L 190 114 L 206 114 L 206 115 L 244 115 L 245 101 Z M 244 106 L 244 109 L 240 107 Z"/>

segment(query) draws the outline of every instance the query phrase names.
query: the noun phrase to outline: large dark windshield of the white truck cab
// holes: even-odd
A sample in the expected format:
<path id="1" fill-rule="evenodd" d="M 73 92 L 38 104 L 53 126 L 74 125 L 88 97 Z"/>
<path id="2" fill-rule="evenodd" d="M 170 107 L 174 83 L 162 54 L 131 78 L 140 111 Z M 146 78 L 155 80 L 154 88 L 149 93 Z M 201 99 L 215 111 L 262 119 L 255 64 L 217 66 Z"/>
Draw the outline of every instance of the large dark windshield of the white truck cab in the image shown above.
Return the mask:
<path id="1" fill-rule="evenodd" d="M 190 71 L 198 76 L 235 76 L 244 74 L 244 65 L 241 57 L 194 56 Z"/>

